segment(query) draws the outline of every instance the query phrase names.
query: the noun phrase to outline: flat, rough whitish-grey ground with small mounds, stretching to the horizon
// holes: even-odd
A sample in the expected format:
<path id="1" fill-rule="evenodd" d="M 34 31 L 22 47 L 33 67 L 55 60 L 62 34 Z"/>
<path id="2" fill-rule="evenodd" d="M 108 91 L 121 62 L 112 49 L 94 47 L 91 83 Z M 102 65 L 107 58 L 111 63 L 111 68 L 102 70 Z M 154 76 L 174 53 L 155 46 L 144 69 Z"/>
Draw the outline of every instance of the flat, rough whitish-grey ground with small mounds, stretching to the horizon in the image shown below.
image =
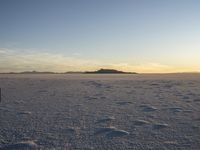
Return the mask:
<path id="1" fill-rule="evenodd" d="M 0 87 L 0 149 L 200 149 L 200 74 L 2 74 Z"/>

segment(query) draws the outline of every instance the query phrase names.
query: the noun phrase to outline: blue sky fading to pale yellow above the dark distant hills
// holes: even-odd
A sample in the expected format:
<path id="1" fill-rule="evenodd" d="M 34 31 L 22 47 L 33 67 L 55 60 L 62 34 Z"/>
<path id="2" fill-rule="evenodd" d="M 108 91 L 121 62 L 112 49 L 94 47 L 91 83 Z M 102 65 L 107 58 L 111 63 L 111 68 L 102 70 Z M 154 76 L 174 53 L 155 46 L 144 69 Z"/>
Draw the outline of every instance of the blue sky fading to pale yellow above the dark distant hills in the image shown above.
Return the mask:
<path id="1" fill-rule="evenodd" d="M 0 72 L 200 72 L 199 0 L 0 0 Z"/>

